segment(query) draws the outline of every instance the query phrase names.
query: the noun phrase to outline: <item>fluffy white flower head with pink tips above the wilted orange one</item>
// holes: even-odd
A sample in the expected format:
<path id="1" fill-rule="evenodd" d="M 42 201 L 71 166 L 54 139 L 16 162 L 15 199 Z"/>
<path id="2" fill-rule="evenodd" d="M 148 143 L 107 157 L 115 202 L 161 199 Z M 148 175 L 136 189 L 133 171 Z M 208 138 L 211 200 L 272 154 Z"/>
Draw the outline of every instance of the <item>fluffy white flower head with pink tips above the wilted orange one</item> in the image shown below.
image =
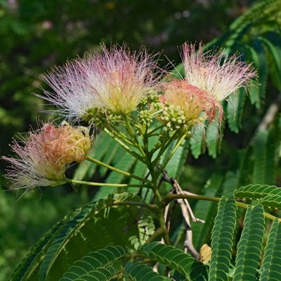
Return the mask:
<path id="1" fill-rule="evenodd" d="M 195 45 L 183 44 L 182 59 L 185 80 L 207 93 L 217 101 L 224 100 L 237 89 L 251 85 L 256 71 L 251 64 L 240 61 L 239 55 L 223 57 L 223 53 L 207 51 L 203 53 L 202 44 L 197 52 Z"/>

